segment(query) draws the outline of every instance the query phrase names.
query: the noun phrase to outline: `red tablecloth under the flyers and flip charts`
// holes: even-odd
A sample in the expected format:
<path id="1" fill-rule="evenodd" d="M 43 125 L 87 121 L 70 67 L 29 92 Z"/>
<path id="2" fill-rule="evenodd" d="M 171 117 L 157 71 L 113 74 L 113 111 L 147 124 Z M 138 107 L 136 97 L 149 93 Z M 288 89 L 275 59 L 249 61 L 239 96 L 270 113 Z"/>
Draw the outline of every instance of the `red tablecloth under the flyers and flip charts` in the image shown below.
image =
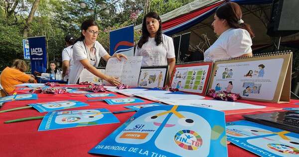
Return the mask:
<path id="1" fill-rule="evenodd" d="M 17 91 L 20 93 L 20 91 Z M 107 92 L 112 93 L 112 92 Z M 50 102 L 59 100 L 78 100 L 86 102 L 88 99 L 85 96 L 70 97 L 70 95 L 76 94 L 63 94 L 63 95 L 51 95 L 51 94 L 38 94 L 38 100 L 24 100 L 7 102 L 0 110 L 11 109 L 15 107 L 26 106 L 26 104 L 36 102 Z M 117 94 L 118 98 L 126 97 Z M 147 103 L 150 101 L 145 100 Z M 265 102 L 253 102 L 241 100 L 239 102 L 264 105 L 270 107 L 299 107 L 296 103 L 299 100 L 291 100 L 288 104 L 276 104 Z M 90 106 L 69 109 L 95 109 L 106 108 L 111 112 L 126 110 L 123 106 L 128 105 L 108 105 L 105 102 L 86 102 Z M 130 104 L 129 104 L 130 105 Z M 255 112 L 258 113 L 258 112 Z M 60 129 L 52 131 L 37 132 L 41 120 L 31 120 L 26 122 L 4 124 L 4 121 L 32 117 L 42 116 L 45 113 L 39 113 L 35 109 L 23 109 L 18 111 L 0 113 L 0 157 L 85 157 L 95 156 L 88 154 L 87 152 L 96 146 L 99 142 L 105 139 L 115 129 L 127 121 L 135 112 L 115 114 L 120 120 L 120 123 L 97 125 L 89 127 L 78 127 L 69 129 Z M 249 113 L 253 114 L 253 113 Z M 226 116 L 227 122 L 237 121 L 242 119 L 242 115 L 228 115 Z M 243 150 L 233 144 L 228 145 L 229 157 L 251 157 L 254 154 Z"/>

